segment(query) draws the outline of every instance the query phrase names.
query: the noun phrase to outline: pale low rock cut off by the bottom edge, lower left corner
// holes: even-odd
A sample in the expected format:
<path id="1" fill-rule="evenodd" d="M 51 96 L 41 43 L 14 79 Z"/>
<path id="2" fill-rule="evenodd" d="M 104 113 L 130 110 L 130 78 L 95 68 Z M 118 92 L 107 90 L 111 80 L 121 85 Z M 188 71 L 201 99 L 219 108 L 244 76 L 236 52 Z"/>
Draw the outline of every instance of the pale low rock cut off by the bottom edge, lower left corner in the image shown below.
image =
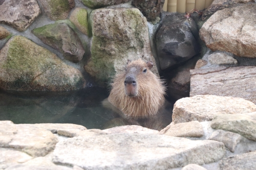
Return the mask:
<path id="1" fill-rule="evenodd" d="M 13 165 L 6 170 L 72 170 L 73 168 L 61 165 L 55 165 L 53 162 L 44 157 L 34 158 L 23 164 Z"/>

